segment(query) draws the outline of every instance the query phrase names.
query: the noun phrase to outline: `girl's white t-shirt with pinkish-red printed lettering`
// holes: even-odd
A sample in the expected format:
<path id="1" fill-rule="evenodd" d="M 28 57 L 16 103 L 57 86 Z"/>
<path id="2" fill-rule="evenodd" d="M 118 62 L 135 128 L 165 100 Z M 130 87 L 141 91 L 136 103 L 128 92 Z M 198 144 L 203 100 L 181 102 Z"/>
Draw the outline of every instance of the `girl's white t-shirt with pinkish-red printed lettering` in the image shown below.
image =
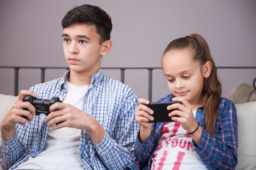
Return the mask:
<path id="1" fill-rule="evenodd" d="M 196 111 L 193 111 L 194 117 Z M 208 170 L 193 150 L 192 137 L 179 122 L 165 122 L 151 170 Z"/>

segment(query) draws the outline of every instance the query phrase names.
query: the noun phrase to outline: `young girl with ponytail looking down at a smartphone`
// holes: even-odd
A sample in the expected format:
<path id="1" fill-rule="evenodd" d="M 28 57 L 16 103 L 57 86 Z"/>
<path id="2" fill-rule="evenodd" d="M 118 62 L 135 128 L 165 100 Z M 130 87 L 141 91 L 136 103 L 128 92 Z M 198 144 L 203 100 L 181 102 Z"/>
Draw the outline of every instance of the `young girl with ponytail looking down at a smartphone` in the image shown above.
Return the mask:
<path id="1" fill-rule="evenodd" d="M 220 97 L 221 83 L 204 38 L 193 33 L 173 40 L 162 56 L 162 68 L 171 94 L 158 102 L 178 101 L 168 110 L 174 122 L 148 123 L 153 110 L 139 99 L 132 170 L 233 170 L 237 164 L 235 105 Z M 173 117 L 177 115 L 179 117 Z"/>

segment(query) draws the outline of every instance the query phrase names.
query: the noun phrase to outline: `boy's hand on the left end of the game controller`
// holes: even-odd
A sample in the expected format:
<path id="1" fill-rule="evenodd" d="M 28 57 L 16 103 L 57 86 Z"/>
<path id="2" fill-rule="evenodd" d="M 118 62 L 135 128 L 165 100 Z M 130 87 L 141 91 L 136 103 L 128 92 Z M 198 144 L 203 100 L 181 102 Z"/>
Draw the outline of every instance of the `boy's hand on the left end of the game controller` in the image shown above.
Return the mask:
<path id="1" fill-rule="evenodd" d="M 25 125 L 27 121 L 31 121 L 34 119 L 34 115 L 36 115 L 36 108 L 29 102 L 23 102 L 24 97 L 26 95 L 31 95 L 36 97 L 36 93 L 33 91 L 20 91 L 18 99 L 13 104 L 9 112 L 5 115 L 2 124 L 1 124 L 1 132 L 2 138 L 4 141 L 9 141 L 16 134 L 16 124 Z M 27 108 L 28 110 L 23 110 L 23 108 Z M 28 119 L 22 117 L 25 116 Z"/>

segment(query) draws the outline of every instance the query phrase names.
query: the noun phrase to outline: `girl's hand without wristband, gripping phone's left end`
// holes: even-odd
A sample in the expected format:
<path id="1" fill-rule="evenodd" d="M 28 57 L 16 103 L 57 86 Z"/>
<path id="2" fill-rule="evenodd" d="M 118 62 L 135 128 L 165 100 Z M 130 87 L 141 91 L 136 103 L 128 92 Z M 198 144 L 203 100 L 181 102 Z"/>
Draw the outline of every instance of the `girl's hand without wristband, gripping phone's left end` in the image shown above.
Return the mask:
<path id="1" fill-rule="evenodd" d="M 149 120 L 154 120 L 151 115 L 154 113 L 153 110 L 143 104 L 149 104 L 147 99 L 138 99 L 139 106 L 136 109 L 135 120 L 140 124 L 139 141 L 143 144 L 151 134 L 152 124 L 148 123 Z"/>

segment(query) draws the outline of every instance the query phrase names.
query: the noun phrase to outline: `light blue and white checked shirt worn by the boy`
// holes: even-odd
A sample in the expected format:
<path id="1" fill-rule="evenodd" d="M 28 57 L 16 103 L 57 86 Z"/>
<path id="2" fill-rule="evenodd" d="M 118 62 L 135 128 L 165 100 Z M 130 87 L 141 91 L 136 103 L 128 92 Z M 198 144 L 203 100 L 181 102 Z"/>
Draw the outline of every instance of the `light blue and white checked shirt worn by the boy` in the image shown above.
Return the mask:
<path id="1" fill-rule="evenodd" d="M 38 98 L 57 96 L 63 101 L 67 93 L 64 82 L 69 74 L 67 71 L 63 78 L 37 84 L 30 90 L 37 93 Z M 134 114 L 137 106 L 137 95 L 129 86 L 103 76 L 101 70 L 92 76 L 81 110 L 99 121 L 105 136 L 99 144 L 94 144 L 88 132 L 81 130 L 78 156 L 86 170 L 121 170 L 135 160 L 134 142 L 139 131 Z M 12 170 L 43 150 L 49 129 L 44 120 L 45 115 L 41 114 L 25 126 L 17 124 L 13 139 L 2 140 L 3 169 Z"/>

